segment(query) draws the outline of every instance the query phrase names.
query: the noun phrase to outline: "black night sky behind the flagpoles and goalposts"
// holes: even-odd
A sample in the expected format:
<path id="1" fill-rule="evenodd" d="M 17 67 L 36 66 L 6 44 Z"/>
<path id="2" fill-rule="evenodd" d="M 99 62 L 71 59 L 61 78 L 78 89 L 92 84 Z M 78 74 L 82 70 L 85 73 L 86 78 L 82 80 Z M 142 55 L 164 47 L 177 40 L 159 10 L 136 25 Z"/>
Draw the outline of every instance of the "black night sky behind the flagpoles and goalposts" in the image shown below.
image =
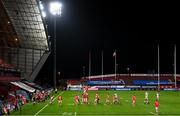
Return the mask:
<path id="1" fill-rule="evenodd" d="M 113 52 L 117 51 L 118 73 L 157 73 L 157 44 L 160 44 L 160 71 L 173 73 L 173 46 L 179 43 L 171 12 L 138 10 L 115 1 L 61 0 L 62 16 L 57 18 L 57 71 L 61 78 L 88 75 L 88 54 L 91 51 L 92 75 L 101 74 L 101 51 L 104 52 L 104 73 L 114 73 Z M 46 2 L 46 10 L 48 10 Z M 146 7 L 146 6 L 145 6 Z M 168 18 L 172 17 L 172 18 Z M 53 17 L 47 14 L 48 34 L 53 38 Z M 44 65 L 41 76 L 53 71 L 53 54 Z"/>

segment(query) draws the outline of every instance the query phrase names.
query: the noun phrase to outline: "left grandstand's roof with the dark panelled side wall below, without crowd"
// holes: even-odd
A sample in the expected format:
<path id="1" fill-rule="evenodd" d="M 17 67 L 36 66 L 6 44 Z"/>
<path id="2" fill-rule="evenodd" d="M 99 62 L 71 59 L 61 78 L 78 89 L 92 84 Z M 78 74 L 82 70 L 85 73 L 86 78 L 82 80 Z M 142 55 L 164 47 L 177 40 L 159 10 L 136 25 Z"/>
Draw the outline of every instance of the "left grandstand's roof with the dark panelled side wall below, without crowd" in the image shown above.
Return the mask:
<path id="1" fill-rule="evenodd" d="M 50 54 L 48 37 L 39 0 L 0 1 L 1 70 L 33 81 Z"/>

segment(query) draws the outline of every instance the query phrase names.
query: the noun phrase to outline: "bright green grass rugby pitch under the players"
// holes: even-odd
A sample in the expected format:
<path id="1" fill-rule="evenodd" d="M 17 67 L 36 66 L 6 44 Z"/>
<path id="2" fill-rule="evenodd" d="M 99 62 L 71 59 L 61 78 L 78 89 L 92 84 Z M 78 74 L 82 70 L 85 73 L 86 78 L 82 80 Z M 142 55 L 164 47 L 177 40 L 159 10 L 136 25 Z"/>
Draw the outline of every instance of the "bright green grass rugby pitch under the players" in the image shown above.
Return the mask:
<path id="1" fill-rule="evenodd" d="M 94 105 L 94 96 L 96 91 L 89 91 L 90 104 L 74 105 L 74 96 L 82 91 L 64 91 L 59 92 L 63 96 L 63 103 L 59 106 L 57 99 L 53 104 L 49 104 L 49 100 L 45 103 L 33 105 L 28 103 L 22 107 L 21 114 L 23 115 L 154 115 L 154 101 L 156 98 L 155 91 L 149 91 L 150 104 L 144 104 L 144 91 L 98 91 L 100 95 L 100 104 Z M 120 104 L 104 105 L 105 96 L 109 93 L 112 95 L 117 93 L 120 96 Z M 136 95 L 137 104 L 132 106 L 131 96 Z M 48 104 L 48 105 L 47 105 Z M 47 105 L 47 106 L 46 106 Z M 43 110 L 41 110 L 46 106 Z M 41 111 L 40 111 L 41 110 Z M 40 111 L 40 112 L 38 112 Z M 38 112 L 38 113 L 37 113 Z M 161 91 L 160 93 L 160 115 L 180 115 L 180 92 L 175 91 Z M 20 111 L 11 112 L 13 115 L 19 115 Z"/>

